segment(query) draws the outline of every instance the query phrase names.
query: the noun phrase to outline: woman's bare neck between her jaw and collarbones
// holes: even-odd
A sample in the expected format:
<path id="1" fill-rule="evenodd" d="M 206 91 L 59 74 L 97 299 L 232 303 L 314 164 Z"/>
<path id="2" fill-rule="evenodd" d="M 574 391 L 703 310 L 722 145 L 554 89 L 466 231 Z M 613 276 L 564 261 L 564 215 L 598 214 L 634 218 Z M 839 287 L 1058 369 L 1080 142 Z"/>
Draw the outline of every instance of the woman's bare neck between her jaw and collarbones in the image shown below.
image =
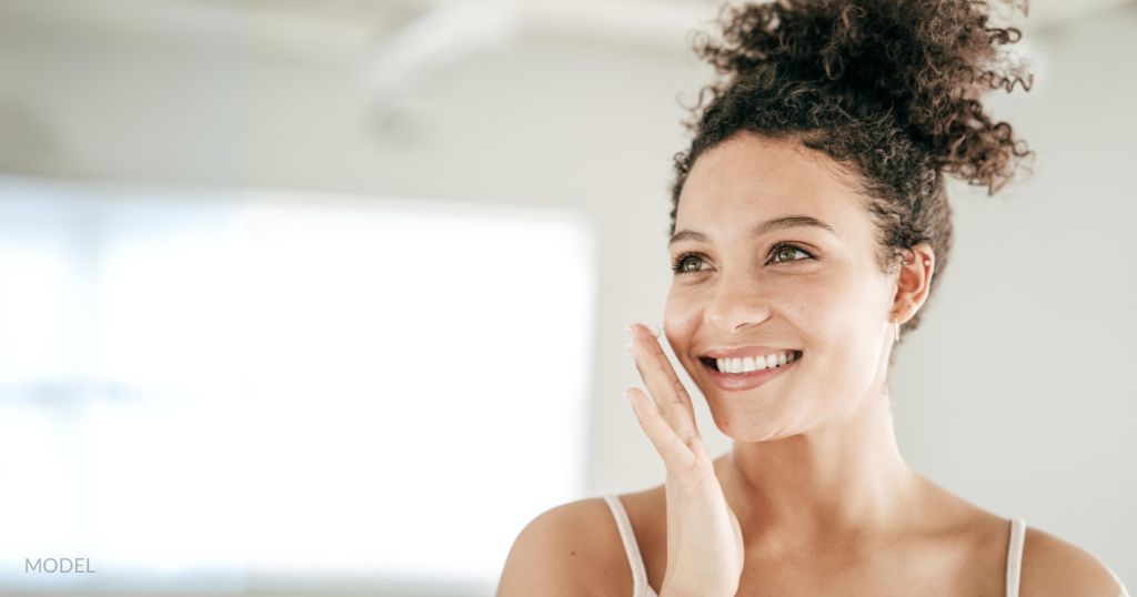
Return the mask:
<path id="1" fill-rule="evenodd" d="M 875 545 L 906 526 L 920 488 L 901 456 L 888 396 L 774 441 L 735 441 L 715 461 L 747 552 Z"/>

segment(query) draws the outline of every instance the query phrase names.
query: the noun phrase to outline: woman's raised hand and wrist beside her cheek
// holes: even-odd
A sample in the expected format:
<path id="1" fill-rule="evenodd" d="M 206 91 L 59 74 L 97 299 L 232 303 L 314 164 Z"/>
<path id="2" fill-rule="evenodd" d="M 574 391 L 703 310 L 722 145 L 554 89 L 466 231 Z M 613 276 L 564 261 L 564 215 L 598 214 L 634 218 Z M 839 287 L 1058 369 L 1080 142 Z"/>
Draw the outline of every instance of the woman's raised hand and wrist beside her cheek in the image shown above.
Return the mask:
<path id="1" fill-rule="evenodd" d="M 667 570 L 659 596 L 732 597 L 742 574 L 742 532 L 695 426 L 695 411 L 667 355 L 647 327 L 628 345 L 650 396 L 624 390 L 667 469 Z"/>

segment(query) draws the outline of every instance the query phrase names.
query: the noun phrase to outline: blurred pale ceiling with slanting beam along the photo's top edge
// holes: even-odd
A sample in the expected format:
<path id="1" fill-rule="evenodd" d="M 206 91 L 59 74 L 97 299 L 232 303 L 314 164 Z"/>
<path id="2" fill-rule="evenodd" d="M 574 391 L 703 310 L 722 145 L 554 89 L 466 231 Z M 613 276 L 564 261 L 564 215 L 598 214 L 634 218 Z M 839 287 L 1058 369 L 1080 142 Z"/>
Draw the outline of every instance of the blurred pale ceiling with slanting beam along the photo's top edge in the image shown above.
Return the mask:
<path id="1" fill-rule="evenodd" d="M 744 0 L 729 0 L 740 3 Z M 1020 3 L 1022 0 L 1015 0 Z M 1010 14 L 1030 32 L 1061 28 L 1129 0 L 1032 0 Z M 302 63 L 348 64 L 377 96 L 395 97 L 491 48 L 562 39 L 584 47 L 690 53 L 713 32 L 711 0 L 0 0 L 0 40 L 20 51 L 85 41 L 136 51 L 172 45 Z M 1004 2 L 995 2 L 1007 17 Z M 20 41 L 25 40 L 25 41 Z M 225 45 L 225 44 L 230 45 Z M 64 51 L 64 50 L 60 50 Z"/>

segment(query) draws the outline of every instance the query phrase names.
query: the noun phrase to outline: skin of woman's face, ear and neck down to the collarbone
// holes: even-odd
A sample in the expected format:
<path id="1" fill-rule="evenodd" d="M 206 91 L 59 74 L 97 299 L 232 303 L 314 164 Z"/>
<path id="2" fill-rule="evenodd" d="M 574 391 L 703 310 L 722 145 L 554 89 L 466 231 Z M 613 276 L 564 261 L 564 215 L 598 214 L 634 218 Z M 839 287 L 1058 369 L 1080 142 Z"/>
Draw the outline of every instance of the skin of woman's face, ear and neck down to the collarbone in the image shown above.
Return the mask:
<path id="1" fill-rule="evenodd" d="M 908 523 L 920 489 L 896 445 L 886 380 L 893 322 L 927 300 L 935 256 L 920 246 L 898 274 L 881 273 L 861 199 L 805 151 L 740 135 L 700 157 L 675 230 L 708 239 L 681 240 L 670 252 L 705 257 L 683 264 L 664 312 L 673 353 L 735 440 L 716 463 L 723 489 L 750 547 L 771 555 L 832 548 L 835 536 L 856 545 L 864 529 L 887 534 Z M 836 233 L 799 226 L 750 237 L 756 223 L 798 214 Z M 806 252 L 771 255 L 781 241 Z M 698 356 L 742 346 L 798 349 L 803 358 L 758 388 L 724 391 Z"/>

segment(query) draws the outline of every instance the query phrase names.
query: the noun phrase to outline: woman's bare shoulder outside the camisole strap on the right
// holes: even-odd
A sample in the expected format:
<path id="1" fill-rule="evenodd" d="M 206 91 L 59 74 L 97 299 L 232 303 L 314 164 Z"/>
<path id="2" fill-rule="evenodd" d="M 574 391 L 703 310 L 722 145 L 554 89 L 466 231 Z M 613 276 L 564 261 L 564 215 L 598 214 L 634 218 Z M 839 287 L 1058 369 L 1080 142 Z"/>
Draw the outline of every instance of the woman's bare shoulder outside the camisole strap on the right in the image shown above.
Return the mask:
<path id="1" fill-rule="evenodd" d="M 1118 579 L 1086 550 L 1039 529 L 1027 526 L 1022 545 L 1020 591 L 1026 597 L 1127 595 Z"/>

